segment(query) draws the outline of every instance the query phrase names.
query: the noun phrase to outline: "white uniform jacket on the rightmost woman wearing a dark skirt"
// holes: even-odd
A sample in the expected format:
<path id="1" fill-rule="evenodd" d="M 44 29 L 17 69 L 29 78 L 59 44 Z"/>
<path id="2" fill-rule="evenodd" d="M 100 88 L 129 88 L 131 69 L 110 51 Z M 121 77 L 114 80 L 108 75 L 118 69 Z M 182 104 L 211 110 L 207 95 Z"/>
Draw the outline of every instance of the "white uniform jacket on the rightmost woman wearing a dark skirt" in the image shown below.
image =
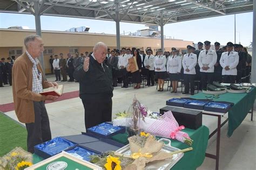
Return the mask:
<path id="1" fill-rule="evenodd" d="M 167 72 L 169 72 L 169 73 L 180 73 L 180 70 L 181 70 L 181 58 L 180 58 L 180 56 L 170 55 L 168 57 L 166 69 L 167 69 Z"/>

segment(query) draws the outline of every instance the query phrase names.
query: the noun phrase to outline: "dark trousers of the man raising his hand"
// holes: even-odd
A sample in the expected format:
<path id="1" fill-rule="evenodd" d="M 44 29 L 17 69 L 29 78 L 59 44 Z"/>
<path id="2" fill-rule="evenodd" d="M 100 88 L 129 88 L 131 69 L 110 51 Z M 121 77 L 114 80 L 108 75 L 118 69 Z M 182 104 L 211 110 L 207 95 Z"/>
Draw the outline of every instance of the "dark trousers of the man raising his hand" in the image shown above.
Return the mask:
<path id="1" fill-rule="evenodd" d="M 85 128 L 91 128 L 112 120 L 112 98 L 82 99 L 84 105 Z"/>

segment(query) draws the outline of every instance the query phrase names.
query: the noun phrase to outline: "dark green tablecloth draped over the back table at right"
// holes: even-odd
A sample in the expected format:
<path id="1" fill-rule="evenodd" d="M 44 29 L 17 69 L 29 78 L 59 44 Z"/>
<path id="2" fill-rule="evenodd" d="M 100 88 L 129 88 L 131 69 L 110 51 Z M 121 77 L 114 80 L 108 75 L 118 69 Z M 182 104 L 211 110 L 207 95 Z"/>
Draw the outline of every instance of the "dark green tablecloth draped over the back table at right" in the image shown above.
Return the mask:
<path id="1" fill-rule="evenodd" d="M 231 137 L 234 130 L 245 119 L 248 112 L 252 109 L 256 95 L 256 88 L 251 89 L 249 93 L 235 94 L 225 93 L 220 94 L 219 98 L 213 98 L 213 101 L 231 102 L 234 103 L 232 108 L 228 111 L 228 132 L 227 136 Z M 191 96 L 195 99 L 206 99 L 206 94 L 198 93 Z"/>

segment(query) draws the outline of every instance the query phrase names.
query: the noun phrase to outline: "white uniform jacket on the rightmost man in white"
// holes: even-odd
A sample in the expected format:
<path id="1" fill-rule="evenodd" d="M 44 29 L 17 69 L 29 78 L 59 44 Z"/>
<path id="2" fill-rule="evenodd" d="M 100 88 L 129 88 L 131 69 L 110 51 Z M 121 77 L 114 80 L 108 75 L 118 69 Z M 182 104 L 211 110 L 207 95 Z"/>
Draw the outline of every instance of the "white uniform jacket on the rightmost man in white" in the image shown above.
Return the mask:
<path id="1" fill-rule="evenodd" d="M 222 75 L 237 75 L 237 65 L 239 62 L 238 52 L 231 51 L 230 55 L 228 52 L 224 52 L 220 57 L 220 66 L 222 69 Z M 225 67 L 228 66 L 229 70 L 225 70 Z"/>

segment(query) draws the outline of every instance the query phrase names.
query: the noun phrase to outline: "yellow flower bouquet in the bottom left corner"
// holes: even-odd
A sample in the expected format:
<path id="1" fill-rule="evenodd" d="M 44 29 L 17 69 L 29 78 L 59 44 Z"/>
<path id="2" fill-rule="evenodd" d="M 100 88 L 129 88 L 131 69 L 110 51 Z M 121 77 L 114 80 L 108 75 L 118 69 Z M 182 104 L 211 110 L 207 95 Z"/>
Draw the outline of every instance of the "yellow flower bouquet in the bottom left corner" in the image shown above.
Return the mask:
<path id="1" fill-rule="evenodd" d="M 0 169 L 23 170 L 32 165 L 32 154 L 21 147 L 16 147 L 11 152 L 0 157 Z"/>

